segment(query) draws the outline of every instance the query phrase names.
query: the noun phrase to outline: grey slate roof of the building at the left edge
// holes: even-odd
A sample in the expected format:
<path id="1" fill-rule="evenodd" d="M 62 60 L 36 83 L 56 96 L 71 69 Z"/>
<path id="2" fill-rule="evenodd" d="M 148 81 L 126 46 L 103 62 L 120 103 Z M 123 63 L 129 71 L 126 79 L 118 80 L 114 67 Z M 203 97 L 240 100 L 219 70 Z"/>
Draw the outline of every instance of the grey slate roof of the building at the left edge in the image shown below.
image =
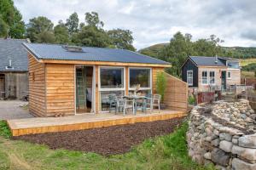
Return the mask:
<path id="1" fill-rule="evenodd" d="M 0 38 L 0 71 L 27 71 L 27 52 L 22 42 L 26 40 Z M 6 69 L 9 59 L 13 69 Z"/>

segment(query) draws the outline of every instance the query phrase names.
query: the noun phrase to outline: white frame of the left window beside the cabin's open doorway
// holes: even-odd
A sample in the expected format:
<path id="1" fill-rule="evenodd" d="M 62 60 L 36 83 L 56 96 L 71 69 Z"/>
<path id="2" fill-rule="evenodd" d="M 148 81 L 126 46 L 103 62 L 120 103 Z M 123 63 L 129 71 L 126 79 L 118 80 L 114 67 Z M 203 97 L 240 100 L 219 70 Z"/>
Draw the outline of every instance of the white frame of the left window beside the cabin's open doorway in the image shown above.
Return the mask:
<path id="1" fill-rule="evenodd" d="M 112 68 L 112 69 L 124 69 L 124 88 L 102 88 L 101 86 L 101 69 L 104 68 L 104 69 L 108 69 L 108 68 Z M 125 82 L 125 66 L 99 66 L 99 71 L 98 71 L 98 89 L 99 89 L 99 98 L 98 98 L 98 109 L 99 109 L 99 113 L 107 113 L 109 111 L 101 111 L 101 105 L 102 105 L 102 92 L 114 92 L 114 91 L 124 91 L 124 94 L 125 94 L 125 85 L 126 85 L 126 82 Z"/>

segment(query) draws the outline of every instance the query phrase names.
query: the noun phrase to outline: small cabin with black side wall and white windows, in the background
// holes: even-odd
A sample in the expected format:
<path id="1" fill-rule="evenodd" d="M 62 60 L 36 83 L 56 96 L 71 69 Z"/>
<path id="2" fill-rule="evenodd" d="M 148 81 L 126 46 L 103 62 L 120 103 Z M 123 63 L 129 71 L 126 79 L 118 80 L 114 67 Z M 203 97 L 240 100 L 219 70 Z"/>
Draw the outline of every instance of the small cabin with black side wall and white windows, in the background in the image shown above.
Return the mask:
<path id="1" fill-rule="evenodd" d="M 241 84 L 239 60 L 226 57 L 189 56 L 182 66 L 182 79 L 188 82 L 190 89 L 225 90 L 230 86 Z"/>

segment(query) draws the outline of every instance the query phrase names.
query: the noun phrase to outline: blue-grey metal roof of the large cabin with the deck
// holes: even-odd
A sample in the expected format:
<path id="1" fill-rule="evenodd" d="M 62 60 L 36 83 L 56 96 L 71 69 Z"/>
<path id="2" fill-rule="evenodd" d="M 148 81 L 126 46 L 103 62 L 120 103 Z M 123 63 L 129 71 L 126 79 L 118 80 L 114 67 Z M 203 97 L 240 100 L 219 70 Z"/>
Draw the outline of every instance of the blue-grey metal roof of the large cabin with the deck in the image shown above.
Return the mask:
<path id="1" fill-rule="evenodd" d="M 166 61 L 154 59 L 147 55 L 138 54 L 126 49 L 82 47 L 83 52 L 67 51 L 61 45 L 43 43 L 23 43 L 24 46 L 38 59 L 61 59 L 83 61 L 109 61 L 121 63 L 146 63 L 170 65 Z"/>

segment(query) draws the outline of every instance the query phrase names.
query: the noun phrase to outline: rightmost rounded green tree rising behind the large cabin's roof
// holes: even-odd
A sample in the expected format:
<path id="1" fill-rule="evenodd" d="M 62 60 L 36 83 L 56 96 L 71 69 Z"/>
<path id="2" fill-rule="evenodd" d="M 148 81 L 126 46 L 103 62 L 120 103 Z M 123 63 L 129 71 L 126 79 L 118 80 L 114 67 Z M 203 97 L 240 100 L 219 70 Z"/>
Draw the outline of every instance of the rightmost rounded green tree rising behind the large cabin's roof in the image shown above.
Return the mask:
<path id="1" fill-rule="evenodd" d="M 130 30 L 114 29 L 108 31 L 108 36 L 111 39 L 111 43 L 115 48 L 129 49 L 135 51 L 136 48 L 132 46 L 133 37 Z"/>

